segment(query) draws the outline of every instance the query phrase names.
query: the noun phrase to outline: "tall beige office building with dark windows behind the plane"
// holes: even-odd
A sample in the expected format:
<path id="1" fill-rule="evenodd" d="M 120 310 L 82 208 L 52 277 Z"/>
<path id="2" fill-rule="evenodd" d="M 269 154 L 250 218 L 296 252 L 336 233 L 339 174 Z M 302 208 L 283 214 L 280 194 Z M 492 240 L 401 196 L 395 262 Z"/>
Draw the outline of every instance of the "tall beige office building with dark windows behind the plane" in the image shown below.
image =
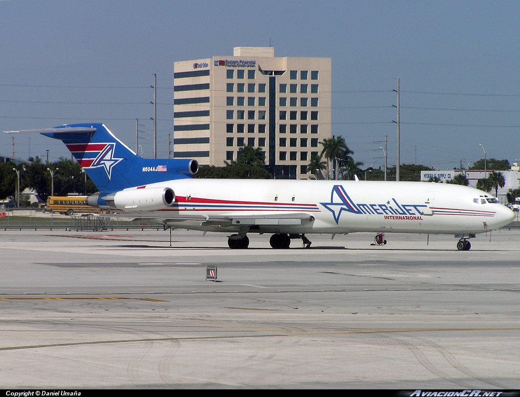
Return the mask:
<path id="1" fill-rule="evenodd" d="M 174 64 L 174 157 L 201 165 L 261 147 L 277 178 L 307 179 L 331 137 L 331 59 L 275 58 L 272 47 Z"/>

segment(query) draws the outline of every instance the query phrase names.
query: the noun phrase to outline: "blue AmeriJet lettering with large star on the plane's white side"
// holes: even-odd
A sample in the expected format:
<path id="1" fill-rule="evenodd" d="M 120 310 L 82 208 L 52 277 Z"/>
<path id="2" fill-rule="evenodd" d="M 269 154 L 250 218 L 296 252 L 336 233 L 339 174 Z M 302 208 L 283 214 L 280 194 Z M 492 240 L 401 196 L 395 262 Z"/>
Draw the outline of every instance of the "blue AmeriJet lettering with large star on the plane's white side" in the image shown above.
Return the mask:
<path id="1" fill-rule="evenodd" d="M 385 215 L 387 220 L 422 221 L 423 212 L 421 208 L 428 207 L 424 204 L 399 204 L 395 198 L 382 204 L 355 203 L 341 185 L 335 185 L 332 188 L 330 202 L 321 202 L 320 204 L 332 212 L 336 224 L 340 222 L 343 211 L 352 214 Z"/>

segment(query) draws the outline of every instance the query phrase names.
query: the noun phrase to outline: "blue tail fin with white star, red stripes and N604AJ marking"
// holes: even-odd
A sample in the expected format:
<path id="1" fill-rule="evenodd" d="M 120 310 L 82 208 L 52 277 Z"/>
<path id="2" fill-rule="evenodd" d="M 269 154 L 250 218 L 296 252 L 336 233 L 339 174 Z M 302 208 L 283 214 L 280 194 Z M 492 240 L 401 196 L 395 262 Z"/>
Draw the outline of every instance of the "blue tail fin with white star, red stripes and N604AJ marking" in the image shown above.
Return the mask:
<path id="1" fill-rule="evenodd" d="M 47 131 L 42 134 L 63 141 L 102 193 L 188 178 L 198 170 L 197 160 L 141 158 L 100 123 L 64 125 Z"/>

